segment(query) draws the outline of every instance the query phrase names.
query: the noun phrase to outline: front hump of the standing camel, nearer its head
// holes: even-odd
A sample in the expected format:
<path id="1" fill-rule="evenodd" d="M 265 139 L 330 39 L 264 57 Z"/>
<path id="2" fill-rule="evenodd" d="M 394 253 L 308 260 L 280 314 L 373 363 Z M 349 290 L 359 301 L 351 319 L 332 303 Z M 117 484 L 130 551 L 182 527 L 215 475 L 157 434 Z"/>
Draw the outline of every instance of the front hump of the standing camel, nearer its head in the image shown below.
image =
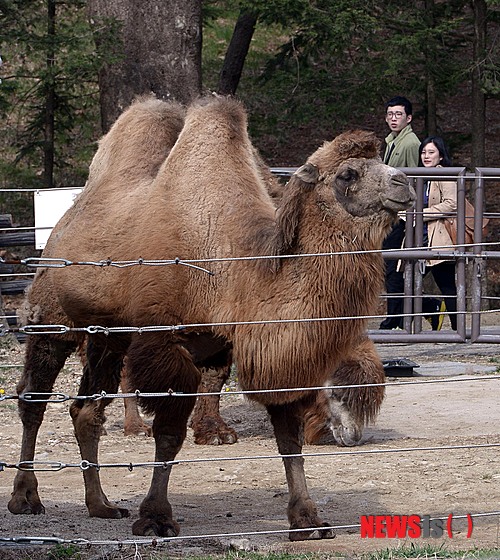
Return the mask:
<path id="1" fill-rule="evenodd" d="M 212 256 L 249 251 L 249 239 L 274 224 L 275 206 L 247 133 L 246 111 L 234 99 L 203 98 L 189 107 L 154 189 L 158 198 L 163 193 L 165 210 L 175 213 L 179 227 L 199 235 Z"/>

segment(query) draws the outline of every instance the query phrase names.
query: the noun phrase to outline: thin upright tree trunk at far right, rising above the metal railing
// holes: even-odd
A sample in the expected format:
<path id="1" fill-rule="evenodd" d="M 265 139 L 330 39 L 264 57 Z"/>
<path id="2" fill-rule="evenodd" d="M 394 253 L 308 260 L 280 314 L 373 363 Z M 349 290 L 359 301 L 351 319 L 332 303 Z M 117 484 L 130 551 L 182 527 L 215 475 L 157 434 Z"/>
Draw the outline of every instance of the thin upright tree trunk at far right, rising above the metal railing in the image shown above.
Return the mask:
<path id="1" fill-rule="evenodd" d="M 471 128 L 472 166 L 485 164 L 486 96 L 482 90 L 483 64 L 486 55 L 486 2 L 472 0 L 474 41 L 472 61 Z"/>

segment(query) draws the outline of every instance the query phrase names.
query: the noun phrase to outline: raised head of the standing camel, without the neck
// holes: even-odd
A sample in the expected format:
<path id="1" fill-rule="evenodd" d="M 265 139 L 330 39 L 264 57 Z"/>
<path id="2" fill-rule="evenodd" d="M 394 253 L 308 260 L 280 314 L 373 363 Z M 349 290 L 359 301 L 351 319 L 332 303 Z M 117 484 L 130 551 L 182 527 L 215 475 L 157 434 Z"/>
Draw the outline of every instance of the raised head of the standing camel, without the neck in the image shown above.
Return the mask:
<path id="1" fill-rule="evenodd" d="M 386 214 L 392 221 L 413 205 L 415 191 L 406 175 L 382 163 L 378 153 L 374 134 L 346 132 L 321 146 L 296 176 L 316 185 L 318 202 L 325 208 L 340 204 L 351 216 Z"/>

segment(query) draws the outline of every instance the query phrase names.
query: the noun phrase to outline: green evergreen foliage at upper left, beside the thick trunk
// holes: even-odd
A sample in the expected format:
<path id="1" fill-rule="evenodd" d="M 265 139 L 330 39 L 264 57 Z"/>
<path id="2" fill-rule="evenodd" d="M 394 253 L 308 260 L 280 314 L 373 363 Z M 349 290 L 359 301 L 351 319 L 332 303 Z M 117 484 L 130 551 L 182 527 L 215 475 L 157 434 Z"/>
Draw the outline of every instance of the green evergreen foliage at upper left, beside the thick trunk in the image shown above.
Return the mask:
<path id="1" fill-rule="evenodd" d="M 56 2 L 55 34 L 48 33 L 47 0 L 0 2 L 4 61 L 0 111 L 2 183 L 44 186 L 46 99 L 54 93 L 56 184 L 82 184 L 94 151 L 99 118 L 96 52 L 84 0 Z M 50 53 L 54 53 L 53 59 Z"/>

